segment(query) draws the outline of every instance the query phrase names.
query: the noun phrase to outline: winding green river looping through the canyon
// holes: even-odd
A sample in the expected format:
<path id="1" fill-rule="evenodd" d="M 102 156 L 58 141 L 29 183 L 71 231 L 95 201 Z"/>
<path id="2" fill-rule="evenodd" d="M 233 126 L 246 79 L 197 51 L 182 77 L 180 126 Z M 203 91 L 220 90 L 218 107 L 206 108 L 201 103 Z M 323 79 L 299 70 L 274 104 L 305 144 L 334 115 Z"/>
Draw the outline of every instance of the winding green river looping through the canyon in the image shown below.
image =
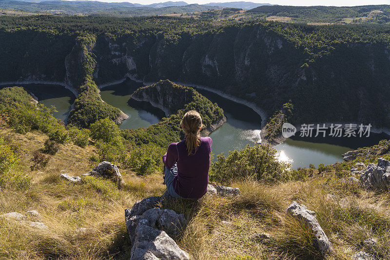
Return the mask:
<path id="1" fill-rule="evenodd" d="M 123 83 L 105 87 L 100 92 L 105 102 L 119 108 L 129 116 L 119 126 L 120 129 L 148 127 L 165 116 L 161 110 L 147 102 L 130 99 L 130 95 L 141 86 L 142 83 L 126 80 Z M 56 106 L 58 112 L 54 114 L 55 117 L 66 119 L 70 105 L 74 101 L 74 96 L 70 91 L 55 85 L 28 84 L 23 87 L 34 93 L 40 103 L 46 106 Z M 216 102 L 227 117 L 227 122 L 210 134 L 213 139 L 212 151 L 215 158 L 222 152 L 228 155 L 231 150 L 243 149 L 248 144 L 253 146 L 261 140 L 261 117 L 251 108 L 206 90 L 198 89 L 198 92 L 212 102 Z M 389 139 L 386 134 L 372 132 L 369 138 L 300 138 L 299 132 L 295 136 L 274 147 L 278 151 L 279 160 L 291 163 L 293 169 L 309 167 L 309 164 L 317 167 L 321 163 L 329 165 L 341 162 L 343 161 L 341 154 L 349 150 L 375 145 L 382 139 Z"/>

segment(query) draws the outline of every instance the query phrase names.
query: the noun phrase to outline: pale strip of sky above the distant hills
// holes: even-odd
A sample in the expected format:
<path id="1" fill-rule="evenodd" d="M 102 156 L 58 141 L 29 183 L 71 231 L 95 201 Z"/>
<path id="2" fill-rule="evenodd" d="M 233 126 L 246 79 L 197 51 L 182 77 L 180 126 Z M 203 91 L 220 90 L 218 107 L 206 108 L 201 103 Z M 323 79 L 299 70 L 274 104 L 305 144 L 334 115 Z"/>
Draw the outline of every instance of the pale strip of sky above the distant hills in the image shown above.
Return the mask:
<path id="1" fill-rule="evenodd" d="M 165 2 L 168 0 L 99 0 L 105 2 L 131 2 L 140 4 L 151 4 L 157 2 Z M 176 1 L 176 0 L 172 0 Z M 232 2 L 239 0 L 183 0 L 186 3 L 204 4 L 209 2 Z M 243 0 L 259 3 L 272 3 L 279 5 L 327 5 L 327 6 L 355 6 L 355 5 L 369 5 L 369 4 L 390 4 L 390 0 Z"/>

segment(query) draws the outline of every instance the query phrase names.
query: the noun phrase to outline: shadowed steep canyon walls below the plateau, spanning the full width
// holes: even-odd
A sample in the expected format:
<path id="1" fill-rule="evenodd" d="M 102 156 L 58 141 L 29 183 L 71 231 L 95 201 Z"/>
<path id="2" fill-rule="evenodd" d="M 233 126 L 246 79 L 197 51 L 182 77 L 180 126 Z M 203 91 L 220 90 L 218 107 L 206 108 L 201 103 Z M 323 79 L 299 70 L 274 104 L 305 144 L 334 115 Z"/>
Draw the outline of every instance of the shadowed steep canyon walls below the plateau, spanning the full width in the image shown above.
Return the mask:
<path id="1" fill-rule="evenodd" d="M 98 85 L 125 77 L 143 82 L 170 79 L 229 93 L 269 115 L 291 100 L 292 123 L 337 121 L 390 127 L 388 46 L 380 40 L 355 42 L 344 31 L 344 38 L 331 41 L 337 28 L 276 25 L 232 25 L 194 34 L 180 30 L 99 33 L 87 59 L 73 35 L 25 31 L 26 40 L 17 41 L 16 47 L 8 39 L 0 45 L 0 50 L 11 50 L 20 59 L 8 62 L 0 57 L 0 81 L 32 78 L 76 87 L 83 84 L 80 79 L 85 74 Z M 323 34 L 318 33 L 321 30 Z M 351 35 L 357 33 L 363 30 Z M 20 39 L 20 34 L 0 32 L 10 39 Z M 34 40 L 44 42 L 38 55 L 32 55 L 37 49 Z M 90 60 L 94 64 L 87 70 L 93 71 L 86 72 Z"/>

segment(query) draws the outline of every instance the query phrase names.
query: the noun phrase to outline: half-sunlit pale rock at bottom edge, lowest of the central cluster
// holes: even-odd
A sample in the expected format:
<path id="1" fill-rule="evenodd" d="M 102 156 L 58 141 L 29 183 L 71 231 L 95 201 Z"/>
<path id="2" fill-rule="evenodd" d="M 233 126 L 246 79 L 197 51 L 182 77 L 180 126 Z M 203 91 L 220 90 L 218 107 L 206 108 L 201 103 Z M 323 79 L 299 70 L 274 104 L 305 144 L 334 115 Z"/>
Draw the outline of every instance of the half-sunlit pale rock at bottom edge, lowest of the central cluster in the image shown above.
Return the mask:
<path id="1" fill-rule="evenodd" d="M 136 238 L 131 250 L 132 258 L 133 255 L 135 255 L 137 248 L 151 252 L 158 259 L 190 259 L 188 253 L 181 250 L 176 242 L 167 235 L 167 233 L 147 225 L 139 224 L 136 228 Z M 137 252 L 139 252 L 139 249 Z"/>

